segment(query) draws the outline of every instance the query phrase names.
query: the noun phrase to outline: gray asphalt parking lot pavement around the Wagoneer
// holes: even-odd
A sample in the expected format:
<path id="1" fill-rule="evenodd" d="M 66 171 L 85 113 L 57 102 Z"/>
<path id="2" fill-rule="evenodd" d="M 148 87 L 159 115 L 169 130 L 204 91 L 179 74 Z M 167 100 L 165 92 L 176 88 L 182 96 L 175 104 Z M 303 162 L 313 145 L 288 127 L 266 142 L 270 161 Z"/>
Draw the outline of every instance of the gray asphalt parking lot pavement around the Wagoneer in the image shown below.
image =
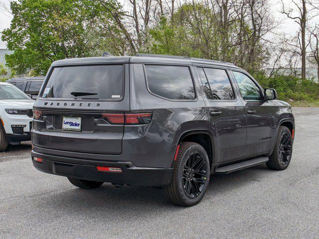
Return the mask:
<path id="1" fill-rule="evenodd" d="M 202 202 L 171 205 L 162 190 L 93 190 L 32 166 L 30 143 L 0 153 L 0 238 L 319 238 L 319 108 L 294 108 L 292 162 L 214 175 Z"/>

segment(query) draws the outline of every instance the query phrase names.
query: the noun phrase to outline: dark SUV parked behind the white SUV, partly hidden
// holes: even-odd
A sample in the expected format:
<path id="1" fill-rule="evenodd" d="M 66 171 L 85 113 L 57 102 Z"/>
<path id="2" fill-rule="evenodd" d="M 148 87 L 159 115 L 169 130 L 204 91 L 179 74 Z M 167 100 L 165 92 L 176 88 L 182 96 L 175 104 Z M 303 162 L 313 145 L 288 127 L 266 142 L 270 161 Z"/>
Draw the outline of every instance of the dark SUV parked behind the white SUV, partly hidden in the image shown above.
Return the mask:
<path id="1" fill-rule="evenodd" d="M 21 77 L 11 78 L 6 82 L 16 86 L 35 100 L 39 94 L 43 81 L 44 77 Z"/>

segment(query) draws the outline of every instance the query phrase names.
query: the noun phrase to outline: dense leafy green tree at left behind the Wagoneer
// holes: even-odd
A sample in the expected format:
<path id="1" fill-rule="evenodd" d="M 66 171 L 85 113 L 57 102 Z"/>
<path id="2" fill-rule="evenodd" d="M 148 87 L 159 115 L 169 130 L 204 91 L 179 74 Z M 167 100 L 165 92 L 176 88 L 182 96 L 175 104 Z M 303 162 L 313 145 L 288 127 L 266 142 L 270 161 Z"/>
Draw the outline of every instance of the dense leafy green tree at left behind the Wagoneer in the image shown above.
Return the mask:
<path id="1" fill-rule="evenodd" d="M 116 2 L 104 4 L 114 7 Z M 17 74 L 31 69 L 45 74 L 52 61 L 91 56 L 99 45 L 101 21 L 107 30 L 115 28 L 110 13 L 92 0 L 18 0 L 10 3 L 10 9 L 11 25 L 1 39 L 14 51 L 5 60 Z"/>

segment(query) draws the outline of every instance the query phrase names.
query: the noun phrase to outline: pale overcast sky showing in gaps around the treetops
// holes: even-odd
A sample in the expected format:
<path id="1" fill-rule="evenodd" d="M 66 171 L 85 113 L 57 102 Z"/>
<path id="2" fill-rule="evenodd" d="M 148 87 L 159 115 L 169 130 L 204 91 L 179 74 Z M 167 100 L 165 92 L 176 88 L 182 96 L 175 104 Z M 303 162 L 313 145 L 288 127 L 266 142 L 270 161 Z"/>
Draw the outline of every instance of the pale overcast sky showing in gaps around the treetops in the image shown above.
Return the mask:
<path id="1" fill-rule="evenodd" d="M 7 6 L 9 5 L 10 0 L 0 0 L 1 2 L 4 2 Z M 120 2 L 125 3 L 128 0 L 120 0 Z M 271 0 L 272 4 L 272 11 L 276 19 L 282 20 L 282 26 L 279 31 L 284 31 L 288 34 L 295 35 L 295 33 L 298 31 L 299 26 L 296 22 L 294 22 L 291 19 L 285 18 L 283 14 L 279 12 L 281 9 L 281 4 L 279 0 Z M 284 0 L 285 6 L 288 8 L 289 6 L 293 7 L 293 4 L 291 4 L 291 0 Z M 10 26 L 11 17 L 8 13 L 4 11 L 3 8 L 0 9 L 0 31 Z M 0 42 L 0 48 L 4 48 L 5 43 Z"/>

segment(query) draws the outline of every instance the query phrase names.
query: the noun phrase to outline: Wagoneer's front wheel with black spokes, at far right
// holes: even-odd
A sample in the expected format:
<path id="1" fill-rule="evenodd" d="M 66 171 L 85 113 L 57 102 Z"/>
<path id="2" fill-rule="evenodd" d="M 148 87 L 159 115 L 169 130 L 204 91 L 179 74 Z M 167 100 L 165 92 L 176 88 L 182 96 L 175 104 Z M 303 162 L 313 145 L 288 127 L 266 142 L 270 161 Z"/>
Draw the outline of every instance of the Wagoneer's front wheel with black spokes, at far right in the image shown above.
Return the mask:
<path id="1" fill-rule="evenodd" d="M 280 126 L 273 154 L 266 163 L 267 167 L 273 170 L 285 170 L 290 164 L 293 153 L 293 138 L 289 128 Z"/>

